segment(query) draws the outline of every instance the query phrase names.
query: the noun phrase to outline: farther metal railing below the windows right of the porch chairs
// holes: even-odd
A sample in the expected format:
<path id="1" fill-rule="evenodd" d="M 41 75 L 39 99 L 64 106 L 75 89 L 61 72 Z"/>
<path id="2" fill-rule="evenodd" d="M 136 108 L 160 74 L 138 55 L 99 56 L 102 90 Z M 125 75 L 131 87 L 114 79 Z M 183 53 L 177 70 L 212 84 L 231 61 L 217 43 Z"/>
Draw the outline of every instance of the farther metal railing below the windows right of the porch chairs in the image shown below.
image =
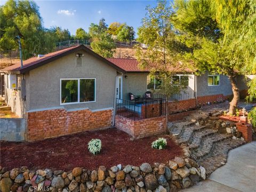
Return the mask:
<path id="1" fill-rule="evenodd" d="M 153 98 L 165 98 L 163 94 L 153 94 Z M 194 99 L 195 97 L 195 91 L 181 91 L 180 93 L 173 94 L 170 98 L 168 98 L 168 101 L 182 101 L 182 100 L 188 100 L 188 99 Z"/>

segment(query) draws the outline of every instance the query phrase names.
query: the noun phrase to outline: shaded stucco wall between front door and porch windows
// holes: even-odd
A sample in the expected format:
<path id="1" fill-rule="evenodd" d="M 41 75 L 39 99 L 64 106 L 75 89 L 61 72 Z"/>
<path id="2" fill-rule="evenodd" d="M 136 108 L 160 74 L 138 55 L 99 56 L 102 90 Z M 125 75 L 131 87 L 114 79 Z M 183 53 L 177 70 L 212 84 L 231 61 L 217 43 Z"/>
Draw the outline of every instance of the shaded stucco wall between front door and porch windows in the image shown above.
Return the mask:
<path id="1" fill-rule="evenodd" d="M 123 75 L 123 99 L 129 100 L 129 93 L 143 95 L 147 91 L 148 73 L 126 73 Z M 127 76 L 125 78 L 125 76 Z"/>

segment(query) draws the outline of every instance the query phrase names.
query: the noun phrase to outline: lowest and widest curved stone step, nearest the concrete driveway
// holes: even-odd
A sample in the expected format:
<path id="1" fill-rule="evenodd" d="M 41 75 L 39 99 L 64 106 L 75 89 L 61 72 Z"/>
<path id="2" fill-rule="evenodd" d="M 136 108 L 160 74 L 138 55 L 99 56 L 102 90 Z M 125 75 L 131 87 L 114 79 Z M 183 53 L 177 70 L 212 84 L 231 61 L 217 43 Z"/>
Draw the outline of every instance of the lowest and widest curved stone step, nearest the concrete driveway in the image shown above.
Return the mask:
<path id="1" fill-rule="evenodd" d="M 245 141 L 238 139 L 226 139 L 222 142 L 215 143 L 211 155 L 198 161 L 199 164 L 206 169 L 206 177 L 209 177 L 209 175 L 220 166 L 225 165 L 229 150 L 239 147 L 244 143 Z"/>

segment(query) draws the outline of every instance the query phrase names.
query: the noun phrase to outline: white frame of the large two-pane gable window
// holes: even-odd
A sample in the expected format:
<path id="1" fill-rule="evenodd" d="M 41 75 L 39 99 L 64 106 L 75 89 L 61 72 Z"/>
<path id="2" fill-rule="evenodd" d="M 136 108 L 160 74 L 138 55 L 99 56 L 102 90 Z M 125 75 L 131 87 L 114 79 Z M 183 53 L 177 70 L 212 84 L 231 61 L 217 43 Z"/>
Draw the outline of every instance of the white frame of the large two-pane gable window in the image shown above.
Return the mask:
<path id="1" fill-rule="evenodd" d="M 85 102 L 79 102 L 80 101 L 80 79 L 94 79 L 94 101 L 85 101 Z M 77 95 L 77 102 L 68 102 L 68 103 L 62 103 L 61 102 L 61 81 L 62 80 L 77 80 L 78 84 L 78 95 Z M 79 103 L 91 103 L 96 102 L 96 78 L 60 78 L 60 105 L 72 105 L 72 104 L 79 104 Z"/>

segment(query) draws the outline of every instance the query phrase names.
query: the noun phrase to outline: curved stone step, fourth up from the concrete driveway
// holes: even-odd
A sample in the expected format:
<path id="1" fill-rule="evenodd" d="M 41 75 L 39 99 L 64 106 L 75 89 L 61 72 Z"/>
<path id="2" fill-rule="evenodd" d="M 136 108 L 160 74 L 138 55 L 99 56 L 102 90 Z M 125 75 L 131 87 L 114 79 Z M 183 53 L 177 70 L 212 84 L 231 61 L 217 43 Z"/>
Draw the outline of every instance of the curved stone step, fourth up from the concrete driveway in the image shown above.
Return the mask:
<path id="1" fill-rule="evenodd" d="M 177 140 L 177 143 L 181 144 L 189 142 L 189 140 L 193 137 L 194 132 L 200 132 L 203 129 L 205 129 L 205 126 L 196 125 L 184 128 L 182 134 L 178 136 L 179 139 Z"/>

